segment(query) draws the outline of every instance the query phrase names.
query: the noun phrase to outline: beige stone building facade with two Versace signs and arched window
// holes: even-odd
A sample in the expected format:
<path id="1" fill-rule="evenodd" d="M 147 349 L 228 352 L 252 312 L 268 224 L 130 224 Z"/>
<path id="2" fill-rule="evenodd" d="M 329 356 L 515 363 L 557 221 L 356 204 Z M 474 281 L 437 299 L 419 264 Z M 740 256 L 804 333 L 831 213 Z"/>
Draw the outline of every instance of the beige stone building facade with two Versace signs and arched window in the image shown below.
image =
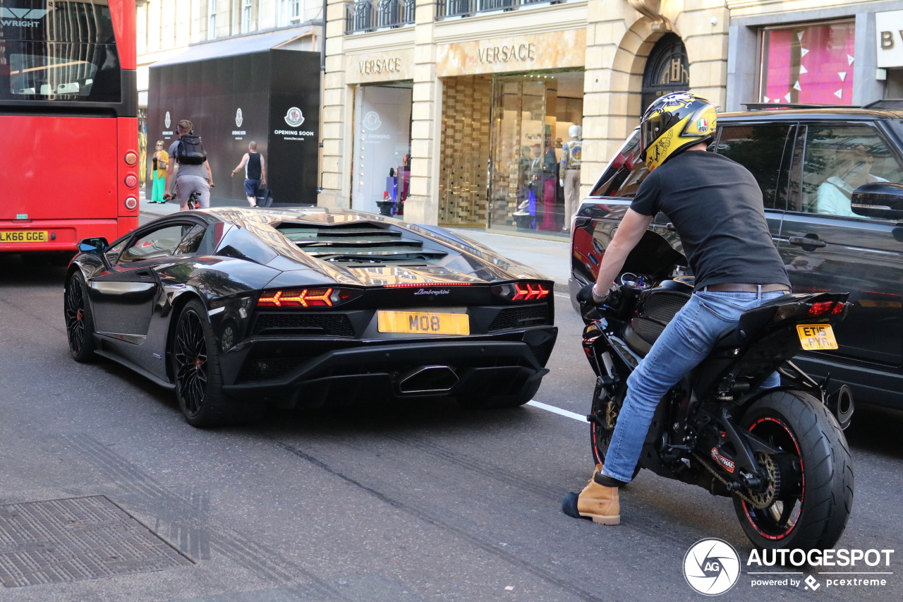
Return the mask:
<path id="1" fill-rule="evenodd" d="M 653 4 L 330 2 L 320 203 L 567 237 L 651 99 L 723 102 L 724 11 Z"/>

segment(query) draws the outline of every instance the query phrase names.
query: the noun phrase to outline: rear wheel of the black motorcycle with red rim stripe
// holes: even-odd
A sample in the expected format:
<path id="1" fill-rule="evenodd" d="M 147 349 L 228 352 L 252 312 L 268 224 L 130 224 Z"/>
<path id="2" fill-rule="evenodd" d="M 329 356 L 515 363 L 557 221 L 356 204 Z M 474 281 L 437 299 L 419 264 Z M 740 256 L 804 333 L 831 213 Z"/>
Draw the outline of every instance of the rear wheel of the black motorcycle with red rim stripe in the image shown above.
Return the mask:
<path id="1" fill-rule="evenodd" d="M 752 404 L 740 426 L 783 453 L 757 455 L 766 492 L 744 490 L 757 508 L 734 497 L 749 541 L 763 549 L 833 548 L 852 510 L 852 458 L 831 412 L 811 395 L 782 390 Z"/>

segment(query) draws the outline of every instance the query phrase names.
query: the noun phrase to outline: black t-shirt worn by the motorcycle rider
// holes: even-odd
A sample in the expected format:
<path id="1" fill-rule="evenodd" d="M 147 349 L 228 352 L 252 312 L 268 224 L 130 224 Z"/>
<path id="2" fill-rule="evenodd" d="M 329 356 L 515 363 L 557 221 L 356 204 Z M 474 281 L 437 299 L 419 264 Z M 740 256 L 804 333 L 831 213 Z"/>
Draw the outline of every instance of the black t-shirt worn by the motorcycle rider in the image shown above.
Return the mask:
<path id="1" fill-rule="evenodd" d="M 674 223 L 697 289 L 727 283 L 790 287 L 759 184 L 726 156 L 684 151 L 673 157 L 647 175 L 630 209 L 663 212 Z"/>

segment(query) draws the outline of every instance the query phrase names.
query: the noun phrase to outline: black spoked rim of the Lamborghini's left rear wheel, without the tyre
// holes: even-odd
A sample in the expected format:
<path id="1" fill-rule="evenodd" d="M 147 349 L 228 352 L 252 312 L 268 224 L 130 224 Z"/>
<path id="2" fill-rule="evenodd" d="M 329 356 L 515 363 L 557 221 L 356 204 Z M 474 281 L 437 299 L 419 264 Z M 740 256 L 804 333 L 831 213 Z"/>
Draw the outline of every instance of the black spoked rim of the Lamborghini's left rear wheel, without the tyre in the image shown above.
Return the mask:
<path id="1" fill-rule="evenodd" d="M 182 409 L 186 417 L 196 417 L 207 398 L 209 367 L 204 327 L 194 307 L 186 307 L 179 316 L 172 358 Z"/>

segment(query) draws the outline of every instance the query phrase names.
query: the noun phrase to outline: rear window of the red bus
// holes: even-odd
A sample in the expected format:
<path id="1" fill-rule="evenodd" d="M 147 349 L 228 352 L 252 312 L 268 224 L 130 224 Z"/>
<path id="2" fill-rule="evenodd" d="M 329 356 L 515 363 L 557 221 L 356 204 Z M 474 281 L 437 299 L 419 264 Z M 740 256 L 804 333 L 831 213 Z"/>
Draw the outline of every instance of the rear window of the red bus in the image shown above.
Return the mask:
<path id="1" fill-rule="evenodd" d="M 0 0 L 0 101 L 120 99 L 107 0 Z"/>

